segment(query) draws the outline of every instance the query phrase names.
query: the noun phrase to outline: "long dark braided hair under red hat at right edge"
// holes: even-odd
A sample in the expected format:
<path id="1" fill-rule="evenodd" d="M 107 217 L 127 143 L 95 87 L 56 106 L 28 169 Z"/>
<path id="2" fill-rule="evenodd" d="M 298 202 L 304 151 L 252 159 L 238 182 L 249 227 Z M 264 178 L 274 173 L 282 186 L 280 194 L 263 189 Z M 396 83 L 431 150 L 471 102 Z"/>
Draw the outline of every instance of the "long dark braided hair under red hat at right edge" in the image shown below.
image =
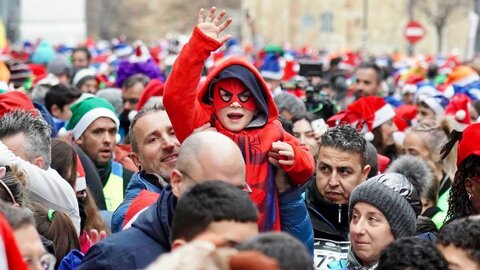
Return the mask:
<path id="1" fill-rule="evenodd" d="M 472 202 L 465 189 L 465 180 L 469 177 L 480 175 L 480 157 L 471 155 L 458 167 L 452 183 L 448 199 L 447 220 L 451 218 L 467 217 L 474 214 Z"/>

